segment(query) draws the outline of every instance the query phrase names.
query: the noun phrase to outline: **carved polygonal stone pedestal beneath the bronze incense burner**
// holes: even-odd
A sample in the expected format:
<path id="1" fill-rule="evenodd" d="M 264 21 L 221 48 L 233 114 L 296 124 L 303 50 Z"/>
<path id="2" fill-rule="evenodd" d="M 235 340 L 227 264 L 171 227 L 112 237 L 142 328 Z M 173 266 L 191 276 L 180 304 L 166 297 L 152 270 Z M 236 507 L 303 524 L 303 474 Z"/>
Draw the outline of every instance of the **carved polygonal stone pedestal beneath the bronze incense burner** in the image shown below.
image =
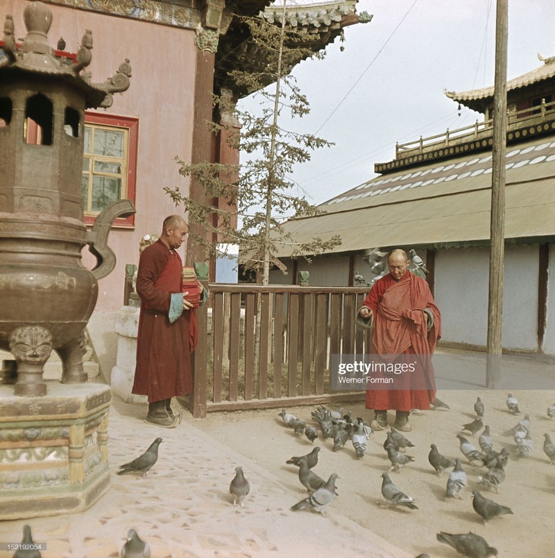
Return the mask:
<path id="1" fill-rule="evenodd" d="M 108 489 L 110 387 L 47 384 L 0 385 L 0 520 L 80 512 Z"/>

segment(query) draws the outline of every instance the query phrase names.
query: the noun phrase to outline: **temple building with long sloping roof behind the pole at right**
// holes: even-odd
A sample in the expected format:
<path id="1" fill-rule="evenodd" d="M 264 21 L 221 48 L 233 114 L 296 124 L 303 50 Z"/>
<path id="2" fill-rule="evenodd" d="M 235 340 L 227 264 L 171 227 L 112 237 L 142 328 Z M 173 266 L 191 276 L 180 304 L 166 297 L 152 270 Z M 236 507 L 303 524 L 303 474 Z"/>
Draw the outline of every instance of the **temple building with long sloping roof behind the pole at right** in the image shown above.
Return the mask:
<path id="1" fill-rule="evenodd" d="M 503 347 L 555 354 L 555 57 L 507 82 Z M 443 315 L 443 343 L 483 348 L 487 336 L 493 87 L 445 91 L 484 120 L 443 135 L 398 144 L 379 176 L 321 204 L 321 216 L 296 218 L 298 242 L 334 232 L 343 243 L 311 264 L 278 252 L 296 281 L 349 286 L 373 279 L 371 250 L 415 249 Z M 360 283 L 358 284 L 360 286 Z"/>

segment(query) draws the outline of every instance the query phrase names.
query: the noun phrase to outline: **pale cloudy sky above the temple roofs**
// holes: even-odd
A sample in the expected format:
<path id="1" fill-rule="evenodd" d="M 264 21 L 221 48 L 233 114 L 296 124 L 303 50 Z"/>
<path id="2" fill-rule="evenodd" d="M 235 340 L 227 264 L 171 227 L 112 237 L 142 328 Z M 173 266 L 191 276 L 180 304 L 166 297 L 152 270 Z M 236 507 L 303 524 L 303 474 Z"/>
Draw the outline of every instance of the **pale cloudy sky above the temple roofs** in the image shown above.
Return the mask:
<path id="1" fill-rule="evenodd" d="M 375 177 L 396 141 L 483 120 L 465 107 L 459 116 L 443 91 L 493 85 L 495 10 L 495 0 L 360 0 L 357 12 L 372 21 L 345 28 L 324 60 L 293 70 L 311 112 L 289 125 L 334 142 L 296 166 L 298 193 L 321 204 Z M 553 0 L 509 0 L 508 79 L 543 64 L 538 53 L 555 56 L 554 29 Z"/>

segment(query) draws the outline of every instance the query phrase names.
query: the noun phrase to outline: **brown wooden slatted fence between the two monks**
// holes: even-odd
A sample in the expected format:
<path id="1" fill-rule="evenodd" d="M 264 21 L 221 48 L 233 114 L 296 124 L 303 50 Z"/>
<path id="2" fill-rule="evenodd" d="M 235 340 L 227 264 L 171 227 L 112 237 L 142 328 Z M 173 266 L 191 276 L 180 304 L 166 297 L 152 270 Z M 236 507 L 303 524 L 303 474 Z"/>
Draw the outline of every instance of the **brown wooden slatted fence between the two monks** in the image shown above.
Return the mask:
<path id="1" fill-rule="evenodd" d="M 355 328 L 367 292 L 210 284 L 210 302 L 197 310 L 193 416 L 364 399 L 364 392 L 331 392 L 330 360 L 332 354 L 369 351 L 370 333 Z M 255 329 L 260 332 L 257 359 Z"/>

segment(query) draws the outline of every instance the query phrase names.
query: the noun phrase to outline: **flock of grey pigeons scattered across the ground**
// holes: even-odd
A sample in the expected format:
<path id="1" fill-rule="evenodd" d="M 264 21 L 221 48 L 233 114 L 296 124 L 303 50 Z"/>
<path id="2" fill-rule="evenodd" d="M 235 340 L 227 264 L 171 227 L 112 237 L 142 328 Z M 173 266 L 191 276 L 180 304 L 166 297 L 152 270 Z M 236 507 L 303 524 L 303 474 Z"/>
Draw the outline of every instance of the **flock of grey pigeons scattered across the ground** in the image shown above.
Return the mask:
<path id="1" fill-rule="evenodd" d="M 520 415 L 518 408 L 518 401 L 509 394 L 506 399 L 506 406 L 509 412 L 513 415 Z M 445 403 L 436 399 L 432 403 L 432 408 L 449 408 Z M 505 480 L 505 467 L 509 462 L 509 450 L 501 448 L 500 451 L 495 451 L 493 448 L 493 439 L 490 434 L 490 426 L 484 425 L 485 408 L 484 403 L 480 397 L 474 405 L 476 419 L 468 424 L 463 424 L 461 430 L 469 432 L 472 437 L 475 437 L 480 430 L 481 433 L 478 438 L 478 448 L 469 442 L 468 438 L 463 434 L 457 434 L 459 439 L 459 448 L 463 457 L 468 460 L 470 465 L 479 463 L 480 467 L 487 470 L 483 475 L 478 476 L 479 482 L 484 487 L 495 490 L 498 494 L 499 485 Z M 347 442 L 352 442 L 353 451 L 357 457 L 364 457 L 366 452 L 366 442 L 373 434 L 373 429 L 363 419 L 358 417 L 356 421 L 352 421 L 351 413 L 345 414 L 345 410 L 341 408 L 338 411 L 318 407 L 311 412 L 311 418 L 315 425 L 306 424 L 295 415 L 282 410 L 280 412 L 283 424 L 287 428 L 291 428 L 297 435 L 303 434 L 309 439 L 311 444 L 318 439 L 320 433 L 315 425 L 318 425 L 323 440 L 330 438 L 333 439 L 333 451 L 339 451 Z M 547 415 L 550 419 L 555 417 L 555 404 L 547 408 Z M 533 451 L 533 439 L 531 437 L 531 420 L 529 415 L 511 428 L 509 431 L 513 435 L 515 448 L 520 457 L 529 457 Z M 543 451 L 549 460 L 550 464 L 555 464 L 555 444 L 552 442 L 549 434 L 545 433 L 545 441 L 543 443 Z M 163 442 L 162 438 L 157 437 L 148 449 L 139 457 L 125 463 L 119 467 L 118 475 L 125 473 L 140 473 L 142 477 L 148 476 L 148 471 L 156 464 L 158 459 L 158 446 Z M 414 444 L 409 439 L 404 437 L 400 432 L 391 427 L 391 430 L 386 433 L 386 439 L 383 444 L 384 450 L 387 453 L 388 460 L 391 462 L 391 467 L 382 473 L 382 496 L 386 501 L 386 507 L 396 508 L 406 507 L 408 509 L 418 509 L 416 500 L 406 494 L 400 487 L 395 485 L 389 473 L 400 472 L 401 469 L 407 465 L 410 466 L 414 461 L 414 457 L 406 453 L 407 448 L 413 448 Z M 287 464 L 298 467 L 298 478 L 303 487 L 307 490 L 308 496 L 300 502 L 291 507 L 291 510 L 298 511 L 299 509 L 311 509 L 315 512 L 325 514 L 325 509 L 333 502 L 336 496 L 335 482 L 339 478 L 337 473 L 332 473 L 328 480 L 324 480 L 314 473 L 313 469 L 318 464 L 318 454 L 321 452 L 320 446 L 315 446 L 314 449 L 307 455 L 300 457 L 291 457 L 287 460 Z M 439 453 L 436 444 L 431 444 L 428 455 L 429 464 L 436 471 L 438 478 L 442 478 L 443 473 L 447 469 L 452 469 L 447 478 L 447 485 L 445 487 L 445 498 L 459 498 L 461 499 L 461 490 L 466 487 L 467 474 L 463 469 L 461 457 L 456 457 L 453 462 L 449 458 Z M 233 505 L 244 506 L 244 500 L 250 491 L 248 480 L 244 476 L 243 469 L 237 467 L 235 469 L 235 476 L 230 482 L 230 494 L 233 498 Z M 472 507 L 479 516 L 481 516 L 484 525 L 487 525 L 491 519 L 504 515 L 513 514 L 511 508 L 501 505 L 494 500 L 490 500 L 481 494 L 480 491 L 472 491 Z M 437 534 L 437 540 L 452 546 L 459 554 L 469 558 L 488 558 L 490 556 L 497 556 L 497 549 L 489 546 L 483 537 L 472 532 L 461 534 L 450 534 L 440 532 Z M 30 548 L 33 543 L 31 535 L 31 528 L 29 525 L 24 525 L 22 543 Z M 23 545 L 22 545 L 23 546 Z M 151 550 L 148 543 L 139 538 L 137 532 L 130 529 L 127 533 L 127 540 L 121 548 L 121 558 L 150 558 Z M 426 558 L 427 555 L 420 555 L 417 558 Z M 13 558 L 40 558 L 40 550 L 17 550 Z"/>

